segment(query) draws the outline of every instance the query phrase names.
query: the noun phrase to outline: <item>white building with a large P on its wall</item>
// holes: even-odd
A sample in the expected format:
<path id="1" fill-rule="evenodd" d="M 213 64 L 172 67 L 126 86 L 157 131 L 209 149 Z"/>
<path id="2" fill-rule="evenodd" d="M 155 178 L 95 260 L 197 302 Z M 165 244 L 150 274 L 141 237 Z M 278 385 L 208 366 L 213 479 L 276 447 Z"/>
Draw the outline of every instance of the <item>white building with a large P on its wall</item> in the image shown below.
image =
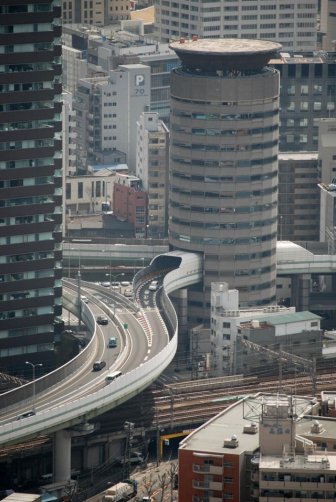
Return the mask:
<path id="1" fill-rule="evenodd" d="M 108 76 L 81 79 L 75 94 L 77 168 L 113 162 L 126 154 L 136 168 L 137 120 L 150 104 L 150 68 L 120 65 Z"/>

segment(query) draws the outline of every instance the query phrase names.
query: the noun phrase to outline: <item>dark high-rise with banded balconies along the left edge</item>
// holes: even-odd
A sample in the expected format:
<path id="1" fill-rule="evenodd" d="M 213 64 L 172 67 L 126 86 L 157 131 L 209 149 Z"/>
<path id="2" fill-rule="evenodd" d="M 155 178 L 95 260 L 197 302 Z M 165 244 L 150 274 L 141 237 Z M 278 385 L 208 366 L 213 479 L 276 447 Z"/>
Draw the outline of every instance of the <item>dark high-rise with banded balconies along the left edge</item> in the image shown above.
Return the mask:
<path id="1" fill-rule="evenodd" d="M 61 314 L 61 5 L 0 1 L 0 358 L 52 367 Z"/>

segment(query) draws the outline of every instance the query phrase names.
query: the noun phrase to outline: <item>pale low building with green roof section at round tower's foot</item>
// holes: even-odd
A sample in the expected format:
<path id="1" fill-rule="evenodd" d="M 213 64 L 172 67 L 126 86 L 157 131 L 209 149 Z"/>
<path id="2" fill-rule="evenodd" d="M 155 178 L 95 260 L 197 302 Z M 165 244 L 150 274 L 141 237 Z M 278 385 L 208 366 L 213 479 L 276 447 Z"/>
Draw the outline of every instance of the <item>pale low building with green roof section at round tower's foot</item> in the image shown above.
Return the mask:
<path id="1" fill-rule="evenodd" d="M 295 307 L 238 307 L 237 290 L 227 284 L 211 285 L 211 375 L 257 374 L 273 370 L 274 358 L 261 347 L 280 349 L 307 360 L 322 356 L 321 318 L 312 312 L 296 312 Z M 260 346 L 247 350 L 241 340 Z"/>

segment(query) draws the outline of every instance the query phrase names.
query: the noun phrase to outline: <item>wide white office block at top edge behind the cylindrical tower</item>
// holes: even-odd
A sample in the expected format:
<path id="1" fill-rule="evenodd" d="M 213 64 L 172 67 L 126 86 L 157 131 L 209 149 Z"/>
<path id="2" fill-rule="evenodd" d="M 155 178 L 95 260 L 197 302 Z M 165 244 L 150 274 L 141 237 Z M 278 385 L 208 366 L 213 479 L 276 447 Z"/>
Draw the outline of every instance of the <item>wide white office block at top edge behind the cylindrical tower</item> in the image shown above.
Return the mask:
<path id="1" fill-rule="evenodd" d="M 163 42 L 201 38 L 257 38 L 287 51 L 316 50 L 318 0 L 155 0 L 156 36 Z"/>

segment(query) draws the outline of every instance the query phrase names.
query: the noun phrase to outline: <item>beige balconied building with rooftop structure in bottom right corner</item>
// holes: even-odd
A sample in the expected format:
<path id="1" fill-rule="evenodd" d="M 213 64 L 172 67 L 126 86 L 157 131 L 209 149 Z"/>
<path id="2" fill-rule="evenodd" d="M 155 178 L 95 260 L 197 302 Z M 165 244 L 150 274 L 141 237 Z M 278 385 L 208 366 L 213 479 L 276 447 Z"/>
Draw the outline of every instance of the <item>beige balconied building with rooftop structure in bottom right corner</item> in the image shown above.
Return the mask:
<path id="1" fill-rule="evenodd" d="M 268 441 L 260 443 L 258 473 L 252 470 L 255 497 L 251 500 L 335 500 L 336 421 L 307 415 L 293 420 L 295 405 L 277 401 L 274 399 L 271 410 L 265 409 Z M 260 430 L 260 434 L 264 432 Z"/>

